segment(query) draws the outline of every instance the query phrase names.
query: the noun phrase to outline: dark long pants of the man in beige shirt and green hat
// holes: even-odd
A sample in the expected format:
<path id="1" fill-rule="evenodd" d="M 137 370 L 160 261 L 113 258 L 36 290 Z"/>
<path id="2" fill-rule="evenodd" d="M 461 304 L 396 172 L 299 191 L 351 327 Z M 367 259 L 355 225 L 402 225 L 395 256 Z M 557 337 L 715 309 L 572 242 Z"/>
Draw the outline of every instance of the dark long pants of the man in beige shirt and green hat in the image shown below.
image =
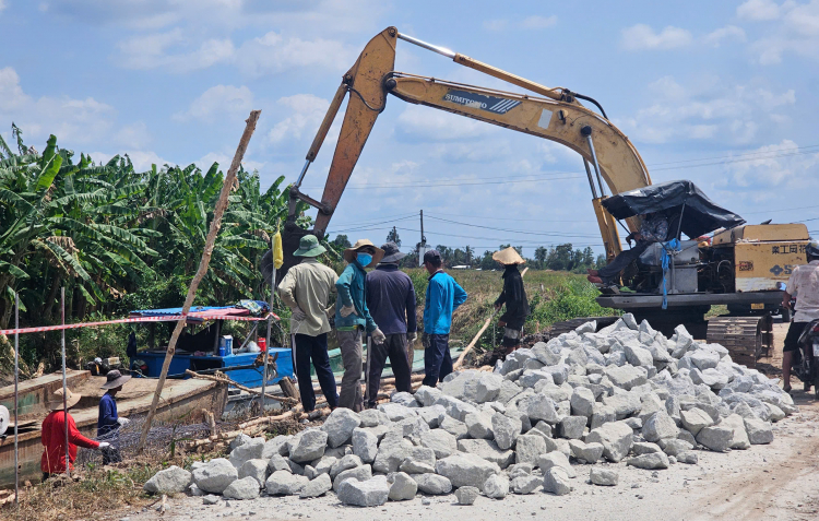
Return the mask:
<path id="1" fill-rule="evenodd" d="M 318 336 L 296 333 L 296 378 L 298 392 L 301 395 L 301 406 L 309 413 L 316 408 L 316 393 L 312 391 L 310 363 L 316 367 L 321 392 L 324 393 L 328 405 L 334 408 L 339 405 L 339 393 L 335 392 L 335 377 L 330 368 L 330 357 L 327 354 L 327 333 Z"/>

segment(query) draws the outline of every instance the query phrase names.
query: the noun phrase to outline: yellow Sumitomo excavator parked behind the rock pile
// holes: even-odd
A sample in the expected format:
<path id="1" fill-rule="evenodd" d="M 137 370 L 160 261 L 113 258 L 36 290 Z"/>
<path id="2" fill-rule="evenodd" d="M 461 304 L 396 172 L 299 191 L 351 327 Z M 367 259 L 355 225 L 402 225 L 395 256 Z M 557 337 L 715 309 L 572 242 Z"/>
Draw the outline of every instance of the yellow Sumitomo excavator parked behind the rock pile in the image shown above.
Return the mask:
<path id="1" fill-rule="evenodd" d="M 531 94 L 399 72 L 395 70 L 395 45 L 400 39 L 443 55 L 455 63 L 517 85 Z M 347 95 L 347 108 L 324 191 L 321 199 L 314 199 L 301 192 L 301 182 Z M 642 212 L 629 213 L 618 203 L 615 211 L 618 218 L 615 218 L 606 208 L 607 203 L 614 202 L 615 198 L 620 203 L 624 198 L 644 200 L 645 190 L 654 190 L 652 197 L 658 193 L 661 198 L 672 188 L 691 192 L 690 181 L 678 181 L 682 188 L 652 186 L 649 170 L 637 149 L 608 120 L 595 99 L 566 87 L 541 85 L 399 33 L 395 27 L 388 27 L 367 44 L 358 60 L 344 74 L 307 152 L 298 179 L 290 187 L 289 217 L 283 234 L 285 259 L 277 271 L 280 280 L 288 268 L 297 263 L 298 259 L 293 258 L 292 253 L 298 248 L 301 236 L 310 233 L 323 237 L 376 119 L 387 108 L 388 95 L 555 141 L 580 154 L 609 262 L 621 252 L 618 220 L 620 224 L 626 223 L 624 227 L 629 232 L 637 232 Z M 600 113 L 581 102 L 595 106 Z M 607 196 L 606 187 L 614 197 Z M 693 191 L 701 194 L 696 187 Z M 678 222 L 695 218 L 692 215 L 698 208 L 702 210 L 710 208 L 709 204 L 713 205 L 707 198 L 705 203 L 693 199 L 686 203 L 685 193 L 681 208 L 676 210 Z M 311 230 L 296 224 L 299 209 L 304 208 L 300 203 L 318 209 Z M 546 218 L 544 221 L 547 222 Z M 737 226 L 744 223 L 741 218 L 728 222 L 732 223 L 731 227 L 716 233 L 713 238 L 702 241 L 689 235 L 695 240 L 680 240 L 677 248 L 666 250 L 665 256 L 662 245 L 654 245 L 655 248 L 646 250 L 624 274 L 624 284 L 634 288 L 634 293 L 602 295 L 598 303 L 630 311 L 638 320 L 649 319 L 652 325 L 666 333 L 677 324 L 685 324 L 696 338 L 707 335 L 709 341 L 731 348 L 735 358 L 755 363 L 772 345 L 771 315 L 786 312 L 780 309 L 784 283 L 793 265 L 806 263 L 805 247 L 809 237 L 804 224 Z M 680 230 L 686 232 L 686 228 L 677 226 L 678 239 L 681 238 Z M 713 305 L 727 306 L 728 315 L 704 320 L 704 315 Z M 587 318 L 556 324 L 553 331 L 568 330 L 584 320 Z M 606 319 L 601 319 L 598 327 L 605 323 Z"/>

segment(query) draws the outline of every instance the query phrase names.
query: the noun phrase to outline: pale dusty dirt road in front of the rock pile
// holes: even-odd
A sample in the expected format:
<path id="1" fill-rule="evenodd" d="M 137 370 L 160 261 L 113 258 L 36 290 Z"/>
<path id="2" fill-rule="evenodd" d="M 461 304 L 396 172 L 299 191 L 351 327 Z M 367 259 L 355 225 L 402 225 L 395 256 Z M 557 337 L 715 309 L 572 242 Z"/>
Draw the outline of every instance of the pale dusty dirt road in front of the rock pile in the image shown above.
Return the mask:
<path id="1" fill-rule="evenodd" d="M 786 324 L 776 324 L 779 345 L 770 359 L 761 360 L 769 371 L 781 364 L 781 341 Z M 802 389 L 794 382 L 794 389 Z M 203 506 L 201 498 L 169 500 L 163 519 L 213 520 L 327 520 L 478 521 L 503 519 L 549 519 L 566 521 L 634 520 L 816 520 L 819 519 L 819 403 L 812 394 L 797 393 L 800 412 L 774 426 L 769 446 L 715 453 L 699 451 L 699 464 L 675 464 L 664 471 L 643 471 L 622 463 L 603 466 L 619 473 L 615 487 L 586 483 L 590 465 L 575 465 L 571 494 L 556 497 L 541 492 L 530 496 L 509 495 L 502 500 L 479 497 L 472 507 L 454 505 L 454 496 L 417 496 L 411 501 L 388 502 L 371 509 L 345 507 L 334 496 L 300 500 L 294 497 L 259 498 L 252 501 L 219 501 Z M 423 500 L 429 499 L 430 505 Z M 250 512 L 253 512 L 250 514 Z M 110 519 L 131 521 L 156 519 L 147 512 L 119 511 Z"/>

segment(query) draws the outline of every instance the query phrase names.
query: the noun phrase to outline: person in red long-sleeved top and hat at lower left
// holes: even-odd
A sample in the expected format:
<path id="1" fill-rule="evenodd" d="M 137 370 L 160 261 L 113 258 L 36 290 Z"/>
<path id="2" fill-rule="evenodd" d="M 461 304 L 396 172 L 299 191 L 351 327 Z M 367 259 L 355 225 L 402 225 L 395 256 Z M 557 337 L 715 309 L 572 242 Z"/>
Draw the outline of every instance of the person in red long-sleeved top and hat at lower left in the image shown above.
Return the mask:
<path id="1" fill-rule="evenodd" d="M 94 441 L 80 434 L 76 428 L 74 418 L 68 411 L 76 405 L 82 398 L 80 394 L 67 389 L 66 393 L 66 412 L 63 413 L 62 389 L 57 389 L 51 393 L 48 400 L 48 408 L 51 410 L 43 421 L 40 430 L 40 441 L 46 448 L 40 459 L 39 467 L 43 471 L 43 481 L 48 479 L 52 474 L 62 474 L 66 472 L 66 423 L 68 422 L 68 441 L 69 441 L 69 469 L 73 469 L 76 460 L 76 448 L 104 450 L 110 443 L 107 441 Z"/>

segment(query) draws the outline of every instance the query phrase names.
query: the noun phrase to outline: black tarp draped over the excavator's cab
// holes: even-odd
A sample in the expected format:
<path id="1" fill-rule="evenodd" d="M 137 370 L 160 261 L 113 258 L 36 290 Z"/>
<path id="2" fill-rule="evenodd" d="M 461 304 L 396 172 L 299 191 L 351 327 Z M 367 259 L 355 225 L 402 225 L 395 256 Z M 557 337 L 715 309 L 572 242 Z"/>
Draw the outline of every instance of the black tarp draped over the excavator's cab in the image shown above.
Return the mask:
<path id="1" fill-rule="evenodd" d="M 615 218 L 663 213 L 676 224 L 676 217 L 681 214 L 680 230 L 691 238 L 745 223 L 739 215 L 714 204 L 691 181 L 668 181 L 629 190 L 604 200 L 603 206 Z M 677 230 L 669 232 L 676 234 Z"/>

